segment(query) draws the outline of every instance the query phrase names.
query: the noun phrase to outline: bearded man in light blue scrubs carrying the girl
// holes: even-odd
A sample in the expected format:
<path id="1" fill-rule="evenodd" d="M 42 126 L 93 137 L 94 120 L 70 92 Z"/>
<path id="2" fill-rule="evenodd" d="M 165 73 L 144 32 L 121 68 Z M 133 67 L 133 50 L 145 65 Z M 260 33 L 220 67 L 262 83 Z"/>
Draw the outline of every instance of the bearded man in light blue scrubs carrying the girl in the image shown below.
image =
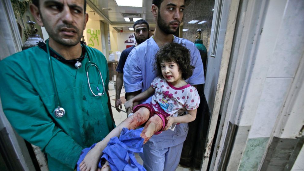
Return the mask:
<path id="1" fill-rule="evenodd" d="M 156 19 L 154 35 L 131 51 L 124 67 L 124 85 L 129 93 L 128 99 L 151 86 L 156 77 L 153 71 L 154 56 L 159 47 L 169 42 L 185 44 L 190 51 L 195 69 L 192 77 L 186 82 L 191 85 L 204 83 L 203 63 L 198 49 L 193 42 L 173 36 L 183 19 L 184 0 L 153 0 L 152 3 L 151 11 Z M 142 103 L 150 101 L 151 97 Z M 179 124 L 174 131 L 168 130 L 160 135 L 153 135 L 144 145 L 144 153 L 141 155 L 144 167 L 148 171 L 176 170 L 187 133 L 188 124 Z"/>

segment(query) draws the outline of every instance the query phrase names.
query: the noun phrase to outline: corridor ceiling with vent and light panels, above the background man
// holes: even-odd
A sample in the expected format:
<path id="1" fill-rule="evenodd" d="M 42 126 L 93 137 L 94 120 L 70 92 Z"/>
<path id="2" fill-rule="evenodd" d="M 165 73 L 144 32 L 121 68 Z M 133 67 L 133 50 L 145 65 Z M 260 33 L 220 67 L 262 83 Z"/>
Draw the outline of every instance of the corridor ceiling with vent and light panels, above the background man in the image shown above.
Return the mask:
<path id="1" fill-rule="evenodd" d="M 133 17 L 148 21 L 150 30 L 155 29 L 155 19 L 151 13 L 152 0 L 143 0 L 143 7 L 118 6 L 115 0 L 87 0 L 87 4 L 91 8 L 87 10 L 91 19 L 102 20 L 116 31 L 123 28 L 124 32 L 133 32 L 128 29 L 128 27 L 133 27 Z M 129 17 L 131 21 L 125 21 L 124 17 Z"/>

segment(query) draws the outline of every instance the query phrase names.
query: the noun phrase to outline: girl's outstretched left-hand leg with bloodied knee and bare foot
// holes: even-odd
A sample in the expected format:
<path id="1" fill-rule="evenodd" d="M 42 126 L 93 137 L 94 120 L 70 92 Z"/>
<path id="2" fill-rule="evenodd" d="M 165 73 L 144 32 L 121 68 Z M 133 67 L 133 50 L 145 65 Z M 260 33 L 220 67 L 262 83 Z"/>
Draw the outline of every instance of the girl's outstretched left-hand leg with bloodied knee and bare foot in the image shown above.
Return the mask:
<path id="1" fill-rule="evenodd" d="M 150 111 L 147 108 L 139 108 L 132 116 L 125 119 L 116 128 L 114 128 L 102 141 L 98 142 L 85 156 L 79 167 L 81 171 L 96 170 L 97 164 L 101 158 L 102 151 L 107 146 L 108 142 L 113 137 L 119 137 L 121 130 L 126 127 L 135 129 L 144 124 L 150 116 Z M 151 135 L 152 136 L 152 135 Z"/>

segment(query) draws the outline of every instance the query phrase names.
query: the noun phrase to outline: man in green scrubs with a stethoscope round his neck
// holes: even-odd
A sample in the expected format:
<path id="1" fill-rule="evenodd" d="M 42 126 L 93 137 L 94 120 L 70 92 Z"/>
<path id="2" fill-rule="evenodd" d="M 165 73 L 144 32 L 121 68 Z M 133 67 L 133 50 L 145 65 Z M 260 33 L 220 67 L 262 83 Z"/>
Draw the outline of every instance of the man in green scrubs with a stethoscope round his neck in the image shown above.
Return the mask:
<path id="1" fill-rule="evenodd" d="M 49 170 L 74 170 L 81 150 L 115 127 L 108 108 L 105 56 L 80 43 L 88 21 L 85 6 L 85 0 L 33 0 L 30 10 L 50 37 L 51 63 L 43 43 L 0 62 L 3 111 L 21 137 L 47 154 Z M 103 78 L 90 66 L 90 86 L 102 96 L 94 96 L 89 88 L 85 72 L 89 60 Z M 79 69 L 74 66 L 77 61 L 83 65 Z M 58 100 L 66 111 L 62 117 L 53 112 Z"/>

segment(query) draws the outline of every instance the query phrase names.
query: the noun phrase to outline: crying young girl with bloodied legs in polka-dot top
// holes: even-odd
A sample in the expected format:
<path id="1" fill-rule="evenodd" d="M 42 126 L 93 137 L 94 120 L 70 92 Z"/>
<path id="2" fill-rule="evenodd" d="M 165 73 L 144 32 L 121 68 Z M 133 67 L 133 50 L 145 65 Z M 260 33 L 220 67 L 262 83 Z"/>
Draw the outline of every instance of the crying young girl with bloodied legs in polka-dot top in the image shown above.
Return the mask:
<path id="1" fill-rule="evenodd" d="M 80 170 L 96 168 L 112 137 L 119 136 L 123 127 L 135 129 L 144 125 L 141 137 L 146 143 L 152 135 L 175 129 L 178 123 L 189 123 L 195 120 L 200 98 L 195 87 L 184 79 L 191 77 L 194 66 L 191 65 L 190 52 L 181 44 L 165 44 L 156 54 L 154 70 L 157 77 L 146 91 L 138 94 L 125 103 L 126 108 L 133 108 L 134 102 L 140 102 L 152 96 L 150 104 L 141 104 L 133 108 L 133 115 L 113 129 L 101 142 L 97 143 L 85 156 Z M 180 116 L 187 111 L 188 113 Z M 98 156 L 98 158 L 97 158 Z"/>

